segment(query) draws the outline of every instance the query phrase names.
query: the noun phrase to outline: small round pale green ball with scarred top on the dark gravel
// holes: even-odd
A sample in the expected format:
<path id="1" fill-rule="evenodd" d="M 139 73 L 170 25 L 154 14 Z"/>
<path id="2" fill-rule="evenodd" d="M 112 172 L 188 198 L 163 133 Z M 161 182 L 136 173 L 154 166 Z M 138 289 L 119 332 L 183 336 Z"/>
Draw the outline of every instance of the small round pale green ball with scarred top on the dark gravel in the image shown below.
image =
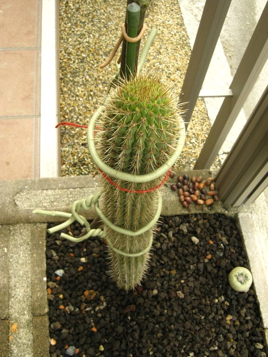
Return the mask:
<path id="1" fill-rule="evenodd" d="M 247 268 L 236 267 L 230 271 L 228 281 L 235 291 L 247 292 L 252 284 L 252 275 Z"/>

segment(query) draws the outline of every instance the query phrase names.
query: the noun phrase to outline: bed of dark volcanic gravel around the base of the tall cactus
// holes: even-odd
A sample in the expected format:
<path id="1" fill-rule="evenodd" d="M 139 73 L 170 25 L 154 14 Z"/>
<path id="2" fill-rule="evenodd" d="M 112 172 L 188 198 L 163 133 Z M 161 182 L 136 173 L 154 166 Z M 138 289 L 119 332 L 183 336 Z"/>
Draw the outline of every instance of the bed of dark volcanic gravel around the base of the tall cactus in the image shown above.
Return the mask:
<path id="1" fill-rule="evenodd" d="M 83 247 L 48 235 L 51 357 L 266 356 L 254 285 L 242 293 L 228 284 L 232 268 L 249 268 L 235 222 L 221 214 L 162 222 L 147 276 L 128 293 L 109 277 L 102 238 Z M 73 224 L 70 232 L 81 229 Z M 57 269 L 65 272 L 59 280 Z"/>

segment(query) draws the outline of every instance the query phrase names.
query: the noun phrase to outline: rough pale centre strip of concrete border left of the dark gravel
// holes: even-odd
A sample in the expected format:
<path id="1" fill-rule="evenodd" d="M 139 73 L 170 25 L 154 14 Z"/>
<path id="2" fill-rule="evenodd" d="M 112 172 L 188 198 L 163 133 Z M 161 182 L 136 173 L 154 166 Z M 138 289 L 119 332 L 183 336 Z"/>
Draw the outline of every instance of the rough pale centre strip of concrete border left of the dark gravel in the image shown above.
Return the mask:
<path id="1" fill-rule="evenodd" d="M 9 353 L 13 357 L 29 357 L 33 351 L 30 234 L 30 225 L 10 226 Z"/>

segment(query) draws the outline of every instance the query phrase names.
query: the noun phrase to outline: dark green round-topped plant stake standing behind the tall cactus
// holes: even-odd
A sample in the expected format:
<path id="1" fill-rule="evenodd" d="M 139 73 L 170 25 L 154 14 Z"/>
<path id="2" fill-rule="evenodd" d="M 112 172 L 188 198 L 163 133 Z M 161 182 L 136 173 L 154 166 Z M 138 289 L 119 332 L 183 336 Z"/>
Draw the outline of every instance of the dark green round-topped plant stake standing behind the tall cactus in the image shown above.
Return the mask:
<path id="1" fill-rule="evenodd" d="M 136 37 L 140 18 L 140 6 L 132 2 L 126 8 L 127 34 L 129 37 Z M 125 77 L 129 80 L 134 75 L 136 42 L 126 42 L 126 63 Z"/>

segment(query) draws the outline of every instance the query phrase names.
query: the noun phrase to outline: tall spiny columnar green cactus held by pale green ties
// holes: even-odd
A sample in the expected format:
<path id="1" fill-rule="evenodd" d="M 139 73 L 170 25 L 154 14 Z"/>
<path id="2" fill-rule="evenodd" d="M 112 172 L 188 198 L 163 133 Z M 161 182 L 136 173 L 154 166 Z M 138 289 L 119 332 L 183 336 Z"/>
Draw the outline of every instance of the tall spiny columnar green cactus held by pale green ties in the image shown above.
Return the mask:
<path id="1" fill-rule="evenodd" d="M 119 84 L 109 95 L 103 115 L 96 123 L 96 147 L 108 166 L 132 175 L 144 175 L 162 166 L 172 155 L 184 131 L 174 91 L 159 76 L 140 74 Z M 131 191 L 157 187 L 165 175 L 136 183 L 111 177 Z M 137 231 L 150 222 L 158 205 L 159 190 L 146 193 L 122 191 L 104 180 L 103 212 L 116 226 Z M 112 245 L 127 253 L 143 251 L 154 228 L 138 236 L 127 236 L 105 227 Z M 138 257 L 120 255 L 109 248 L 113 278 L 125 290 L 137 286 L 148 266 L 149 252 Z"/>

